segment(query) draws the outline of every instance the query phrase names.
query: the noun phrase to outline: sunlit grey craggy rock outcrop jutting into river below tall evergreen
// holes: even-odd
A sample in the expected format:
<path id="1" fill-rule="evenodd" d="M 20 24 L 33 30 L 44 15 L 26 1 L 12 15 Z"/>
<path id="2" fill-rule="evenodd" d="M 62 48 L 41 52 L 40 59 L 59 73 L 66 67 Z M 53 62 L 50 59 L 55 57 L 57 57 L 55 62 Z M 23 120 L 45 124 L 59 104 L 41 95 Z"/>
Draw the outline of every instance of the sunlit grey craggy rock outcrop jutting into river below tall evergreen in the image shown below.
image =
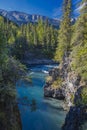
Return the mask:
<path id="1" fill-rule="evenodd" d="M 52 71 L 49 72 L 52 77 L 44 87 L 44 96 L 53 97 L 57 99 L 65 99 L 68 107 L 73 105 L 73 96 L 77 89 L 80 87 L 80 77 L 73 71 L 70 71 L 70 60 L 64 58 L 62 64 Z M 56 89 L 54 82 L 61 80 L 56 83 Z M 59 84 L 58 84 L 59 83 Z"/>

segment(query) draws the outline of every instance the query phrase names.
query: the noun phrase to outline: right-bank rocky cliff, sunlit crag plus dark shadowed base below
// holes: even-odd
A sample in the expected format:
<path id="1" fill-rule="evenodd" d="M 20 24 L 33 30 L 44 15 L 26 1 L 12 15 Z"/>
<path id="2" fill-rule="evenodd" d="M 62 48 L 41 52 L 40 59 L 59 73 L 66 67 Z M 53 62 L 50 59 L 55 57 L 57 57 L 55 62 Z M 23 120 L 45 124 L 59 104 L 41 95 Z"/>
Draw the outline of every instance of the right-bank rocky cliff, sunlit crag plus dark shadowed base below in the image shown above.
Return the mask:
<path id="1" fill-rule="evenodd" d="M 81 103 L 81 91 L 86 86 L 81 77 L 71 68 L 71 60 L 64 57 L 58 68 L 49 72 L 50 78 L 44 87 L 44 96 L 65 100 L 64 109 L 68 110 L 63 130 L 79 130 L 87 120 L 87 107 Z M 59 79 L 62 79 L 59 82 Z M 54 82 L 57 81 L 56 84 Z M 55 87 L 56 85 L 56 87 Z"/>

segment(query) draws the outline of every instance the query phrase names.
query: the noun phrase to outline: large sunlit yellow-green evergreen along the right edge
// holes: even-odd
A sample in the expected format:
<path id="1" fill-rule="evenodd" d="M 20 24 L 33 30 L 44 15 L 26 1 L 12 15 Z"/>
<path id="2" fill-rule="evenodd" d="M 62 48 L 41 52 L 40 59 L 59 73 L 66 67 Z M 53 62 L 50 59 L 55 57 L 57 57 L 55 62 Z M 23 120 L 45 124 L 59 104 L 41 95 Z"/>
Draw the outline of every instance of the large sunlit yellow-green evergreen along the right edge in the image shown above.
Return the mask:
<path id="1" fill-rule="evenodd" d="M 71 65 L 83 80 L 87 80 L 87 0 L 82 1 L 82 6 L 72 38 Z"/>

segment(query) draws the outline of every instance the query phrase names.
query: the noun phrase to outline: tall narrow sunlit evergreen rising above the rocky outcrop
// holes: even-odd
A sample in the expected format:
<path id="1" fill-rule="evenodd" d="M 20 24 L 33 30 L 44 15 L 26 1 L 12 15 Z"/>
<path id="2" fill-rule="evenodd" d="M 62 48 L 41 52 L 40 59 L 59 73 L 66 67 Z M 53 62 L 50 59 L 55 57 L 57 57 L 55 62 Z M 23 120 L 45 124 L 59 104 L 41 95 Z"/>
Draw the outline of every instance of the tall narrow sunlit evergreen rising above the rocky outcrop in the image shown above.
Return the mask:
<path id="1" fill-rule="evenodd" d="M 68 55 L 71 42 L 71 0 L 64 0 L 63 19 L 59 30 L 59 44 L 56 50 L 55 59 L 62 61 Z"/>

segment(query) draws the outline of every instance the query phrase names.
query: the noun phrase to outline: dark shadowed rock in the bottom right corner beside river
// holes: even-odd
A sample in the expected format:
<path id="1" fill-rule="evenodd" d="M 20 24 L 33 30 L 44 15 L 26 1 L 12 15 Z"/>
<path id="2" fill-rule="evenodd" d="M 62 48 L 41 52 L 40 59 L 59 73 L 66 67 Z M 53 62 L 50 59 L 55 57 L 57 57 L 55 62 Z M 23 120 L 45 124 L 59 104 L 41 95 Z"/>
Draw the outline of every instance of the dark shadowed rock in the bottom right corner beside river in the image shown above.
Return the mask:
<path id="1" fill-rule="evenodd" d="M 82 124 L 87 120 L 87 107 L 71 107 L 62 130 L 83 130 Z"/>

